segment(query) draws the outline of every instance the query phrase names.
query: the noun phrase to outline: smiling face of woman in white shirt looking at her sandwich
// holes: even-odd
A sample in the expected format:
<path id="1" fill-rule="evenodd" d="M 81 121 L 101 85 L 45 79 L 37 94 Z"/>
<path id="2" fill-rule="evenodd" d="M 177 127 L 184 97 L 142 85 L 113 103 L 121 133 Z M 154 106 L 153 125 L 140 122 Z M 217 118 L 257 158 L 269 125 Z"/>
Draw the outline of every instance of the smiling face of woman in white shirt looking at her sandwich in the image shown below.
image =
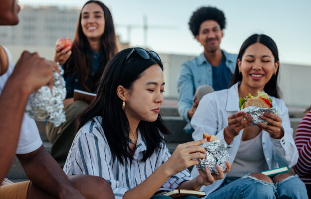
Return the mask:
<path id="1" fill-rule="evenodd" d="M 275 62 L 271 50 L 255 43 L 246 48 L 242 60 L 238 60 L 239 71 L 242 73 L 243 86 L 263 90 L 266 83 L 277 71 L 279 62 Z"/>

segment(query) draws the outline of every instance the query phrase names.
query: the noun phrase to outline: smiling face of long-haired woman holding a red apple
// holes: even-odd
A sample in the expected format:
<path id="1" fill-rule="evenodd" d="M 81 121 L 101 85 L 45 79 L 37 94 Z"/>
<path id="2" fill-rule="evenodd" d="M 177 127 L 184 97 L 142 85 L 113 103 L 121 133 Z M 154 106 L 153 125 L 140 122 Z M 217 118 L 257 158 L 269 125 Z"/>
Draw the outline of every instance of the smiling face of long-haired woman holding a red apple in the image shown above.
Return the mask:
<path id="1" fill-rule="evenodd" d="M 89 3 L 81 11 L 81 26 L 87 39 L 100 39 L 104 34 L 104 11 L 97 3 Z"/>

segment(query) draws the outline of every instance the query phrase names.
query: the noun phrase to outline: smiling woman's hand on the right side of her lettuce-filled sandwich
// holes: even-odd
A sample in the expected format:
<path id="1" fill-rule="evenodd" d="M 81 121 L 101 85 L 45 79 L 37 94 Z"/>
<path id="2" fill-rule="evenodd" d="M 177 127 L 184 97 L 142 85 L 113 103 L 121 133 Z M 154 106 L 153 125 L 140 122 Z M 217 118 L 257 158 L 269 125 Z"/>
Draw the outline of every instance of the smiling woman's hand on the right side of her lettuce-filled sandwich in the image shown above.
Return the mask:
<path id="1" fill-rule="evenodd" d="M 257 123 L 262 130 L 267 131 L 270 137 L 274 139 L 281 139 L 284 136 L 282 128 L 282 119 L 274 114 L 265 113 L 263 116 L 259 116 L 260 119 L 268 122 L 270 125 Z"/>

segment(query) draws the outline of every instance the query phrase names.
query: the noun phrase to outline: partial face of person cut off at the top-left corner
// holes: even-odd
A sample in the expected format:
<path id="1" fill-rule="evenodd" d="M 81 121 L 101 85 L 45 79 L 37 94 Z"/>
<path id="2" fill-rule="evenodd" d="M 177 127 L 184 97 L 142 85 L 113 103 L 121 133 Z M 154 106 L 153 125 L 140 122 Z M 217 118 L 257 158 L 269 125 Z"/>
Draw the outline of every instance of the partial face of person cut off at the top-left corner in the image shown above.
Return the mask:
<path id="1" fill-rule="evenodd" d="M 0 25 L 16 25 L 19 22 L 20 6 L 17 0 L 1 0 Z"/>

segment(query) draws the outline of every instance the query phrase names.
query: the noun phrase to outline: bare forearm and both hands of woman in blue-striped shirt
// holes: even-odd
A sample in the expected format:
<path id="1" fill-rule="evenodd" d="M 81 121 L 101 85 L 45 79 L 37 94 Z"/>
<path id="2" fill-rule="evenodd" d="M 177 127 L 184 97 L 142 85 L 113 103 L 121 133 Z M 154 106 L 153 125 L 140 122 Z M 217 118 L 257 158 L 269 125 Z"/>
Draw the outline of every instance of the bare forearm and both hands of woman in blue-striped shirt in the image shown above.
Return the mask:
<path id="1" fill-rule="evenodd" d="M 206 140 L 198 140 L 178 145 L 172 156 L 164 164 L 155 170 L 155 172 L 153 172 L 141 184 L 127 191 L 124 194 L 123 199 L 150 198 L 172 175 L 183 171 L 192 165 L 197 165 L 199 162 L 195 159 L 205 157 L 205 149 L 198 145 L 205 141 Z M 184 181 L 180 184 L 179 188 L 199 190 L 202 185 L 210 185 L 215 179 L 221 179 L 224 177 L 221 168 L 218 169 L 219 176 L 211 175 L 209 170 L 207 170 L 206 173 L 199 171 L 200 175 L 198 175 L 197 178 L 191 181 Z M 230 165 L 228 170 L 230 170 Z"/>

